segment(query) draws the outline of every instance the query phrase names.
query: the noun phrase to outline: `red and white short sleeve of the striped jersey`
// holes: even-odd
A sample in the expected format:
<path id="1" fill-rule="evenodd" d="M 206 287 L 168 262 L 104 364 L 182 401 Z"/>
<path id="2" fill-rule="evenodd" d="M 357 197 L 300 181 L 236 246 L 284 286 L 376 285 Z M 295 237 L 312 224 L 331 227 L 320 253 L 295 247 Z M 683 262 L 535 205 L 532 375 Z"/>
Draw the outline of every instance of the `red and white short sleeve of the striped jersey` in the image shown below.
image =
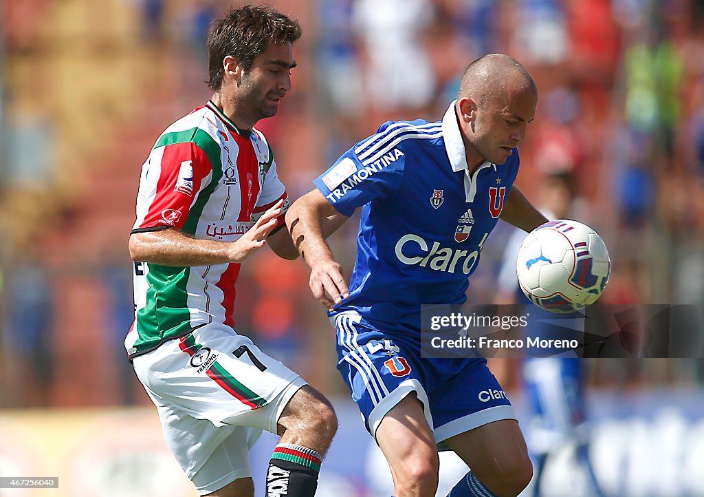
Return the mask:
<path id="1" fill-rule="evenodd" d="M 153 149 L 142 171 L 132 233 L 183 228 L 212 171 L 208 155 L 194 142 Z"/>

